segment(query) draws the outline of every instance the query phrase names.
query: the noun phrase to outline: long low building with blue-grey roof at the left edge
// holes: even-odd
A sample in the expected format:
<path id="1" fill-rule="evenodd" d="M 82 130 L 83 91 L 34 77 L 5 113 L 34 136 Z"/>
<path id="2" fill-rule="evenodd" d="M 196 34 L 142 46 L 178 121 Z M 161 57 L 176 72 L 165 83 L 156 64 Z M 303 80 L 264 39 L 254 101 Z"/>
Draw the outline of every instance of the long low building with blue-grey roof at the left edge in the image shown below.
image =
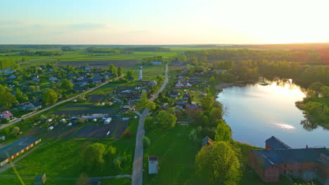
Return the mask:
<path id="1" fill-rule="evenodd" d="M 0 166 L 5 165 L 8 161 L 24 153 L 39 142 L 41 142 L 41 139 L 37 137 L 22 137 L 17 141 L 8 144 L 0 149 Z"/>

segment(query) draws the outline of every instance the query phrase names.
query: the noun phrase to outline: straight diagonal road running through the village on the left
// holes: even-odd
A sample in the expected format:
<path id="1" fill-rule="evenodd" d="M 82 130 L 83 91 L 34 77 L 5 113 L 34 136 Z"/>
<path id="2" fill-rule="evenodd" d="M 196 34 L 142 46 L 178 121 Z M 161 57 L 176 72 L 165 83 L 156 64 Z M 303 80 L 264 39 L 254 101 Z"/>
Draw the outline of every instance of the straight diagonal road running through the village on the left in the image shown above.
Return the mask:
<path id="1" fill-rule="evenodd" d="M 114 80 L 116 80 L 116 79 L 118 79 L 118 78 L 122 78 L 122 77 L 123 77 L 123 76 L 119 76 L 119 77 L 115 78 Z M 111 81 L 112 81 L 112 80 L 111 80 Z M 15 123 L 18 123 L 18 122 L 22 121 L 22 119 L 30 118 L 30 117 L 32 117 L 32 116 L 35 116 L 35 115 L 37 115 L 37 114 L 40 114 L 41 112 L 48 111 L 49 109 L 52 109 L 53 107 L 56 107 L 56 106 L 58 106 L 58 105 L 60 105 L 60 104 L 63 104 L 63 103 L 65 103 L 65 102 L 70 102 L 70 101 L 72 101 L 72 100 L 75 100 L 75 99 L 77 99 L 79 96 L 81 96 L 81 95 L 85 95 L 85 94 L 87 94 L 87 93 L 90 93 L 90 92 L 93 91 L 93 90 L 96 90 L 96 89 L 98 89 L 98 88 L 101 88 L 101 87 L 103 87 L 103 85 L 106 85 L 106 84 L 108 84 L 109 82 L 110 82 L 110 81 L 105 82 L 105 83 L 102 83 L 101 85 L 98 85 L 98 86 L 95 87 L 95 88 L 91 88 L 91 89 L 85 91 L 84 93 L 81 93 L 81 94 L 79 94 L 79 95 L 76 95 L 75 97 L 71 97 L 71 98 L 69 98 L 69 99 L 67 99 L 67 100 L 63 100 L 62 102 L 58 102 L 58 103 L 56 103 L 56 104 L 53 104 L 51 107 L 47 107 L 47 108 L 45 108 L 45 109 L 41 109 L 40 111 L 36 111 L 36 112 L 34 112 L 33 114 L 30 114 L 30 115 L 25 116 L 25 117 L 23 117 L 23 118 L 18 118 L 17 120 L 15 120 L 15 121 L 13 121 L 13 122 L 11 122 L 11 123 L 7 123 L 7 124 L 4 124 L 4 125 L 1 125 L 1 126 L 0 126 L 0 130 L 1 130 L 1 129 L 4 129 L 4 128 L 10 126 L 10 125 L 13 125 L 13 124 L 15 124 Z"/>

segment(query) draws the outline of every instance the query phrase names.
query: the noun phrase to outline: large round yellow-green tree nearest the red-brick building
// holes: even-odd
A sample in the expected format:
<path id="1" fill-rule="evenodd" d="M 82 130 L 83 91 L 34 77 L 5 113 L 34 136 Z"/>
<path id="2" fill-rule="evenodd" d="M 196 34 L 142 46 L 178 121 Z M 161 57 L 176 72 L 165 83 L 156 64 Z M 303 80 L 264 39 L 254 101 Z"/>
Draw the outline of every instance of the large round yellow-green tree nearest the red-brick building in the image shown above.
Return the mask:
<path id="1" fill-rule="evenodd" d="M 203 146 L 195 157 L 195 165 L 198 174 L 209 175 L 214 184 L 226 184 L 238 176 L 238 158 L 226 142 Z"/>

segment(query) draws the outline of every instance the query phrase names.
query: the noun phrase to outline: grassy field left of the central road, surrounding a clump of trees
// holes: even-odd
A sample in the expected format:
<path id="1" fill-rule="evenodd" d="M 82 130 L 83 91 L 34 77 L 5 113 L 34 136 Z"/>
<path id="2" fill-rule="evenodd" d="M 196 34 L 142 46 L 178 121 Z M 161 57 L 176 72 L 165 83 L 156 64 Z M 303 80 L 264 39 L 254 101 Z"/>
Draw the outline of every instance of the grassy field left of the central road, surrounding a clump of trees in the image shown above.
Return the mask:
<path id="1" fill-rule="evenodd" d="M 81 172 L 86 172 L 89 177 L 100 177 L 115 174 L 131 174 L 134 159 L 134 147 L 136 141 L 136 130 L 138 119 L 131 119 L 129 130 L 131 137 L 120 139 L 46 139 L 43 146 L 30 153 L 18 163 L 16 163 L 17 174 L 22 176 L 34 176 L 46 172 L 49 177 L 79 177 Z M 117 156 L 122 156 L 126 152 L 131 155 L 131 163 L 122 165 L 118 170 L 112 165 L 106 165 L 105 169 L 86 171 L 84 163 L 80 158 L 80 153 L 85 146 L 92 143 L 102 143 L 106 146 L 115 146 Z M 1 174 L 16 174 L 13 169 L 9 169 Z M 0 184 L 2 184 L 0 179 Z"/>

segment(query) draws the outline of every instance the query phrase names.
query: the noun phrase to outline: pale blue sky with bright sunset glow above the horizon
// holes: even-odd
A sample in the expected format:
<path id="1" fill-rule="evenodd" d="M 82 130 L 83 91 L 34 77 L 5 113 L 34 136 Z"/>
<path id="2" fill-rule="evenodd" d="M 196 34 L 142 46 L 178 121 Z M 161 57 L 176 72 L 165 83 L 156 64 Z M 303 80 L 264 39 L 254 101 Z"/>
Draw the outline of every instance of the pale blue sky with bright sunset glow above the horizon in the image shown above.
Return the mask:
<path id="1" fill-rule="evenodd" d="M 0 44 L 329 42 L 329 1 L 10 0 Z"/>

